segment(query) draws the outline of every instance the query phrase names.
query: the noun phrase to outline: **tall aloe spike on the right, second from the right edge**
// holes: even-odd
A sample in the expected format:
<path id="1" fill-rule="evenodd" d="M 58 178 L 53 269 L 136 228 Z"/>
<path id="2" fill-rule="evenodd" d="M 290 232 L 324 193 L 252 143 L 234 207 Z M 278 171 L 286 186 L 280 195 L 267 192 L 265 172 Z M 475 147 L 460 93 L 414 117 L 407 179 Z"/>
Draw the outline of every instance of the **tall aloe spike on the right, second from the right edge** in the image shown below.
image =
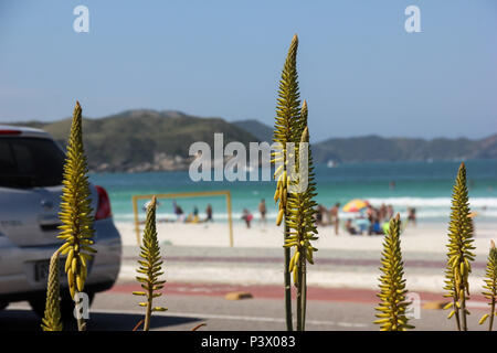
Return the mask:
<path id="1" fill-rule="evenodd" d="M 448 225 L 447 266 L 445 270 L 445 297 L 452 298 L 445 309 L 452 309 L 448 319 L 456 320 L 459 331 L 467 331 L 466 301 L 469 299 L 468 277 L 472 272 L 473 222 L 469 217 L 469 202 L 466 186 L 466 167 L 461 163 L 452 194 L 451 222 Z"/>

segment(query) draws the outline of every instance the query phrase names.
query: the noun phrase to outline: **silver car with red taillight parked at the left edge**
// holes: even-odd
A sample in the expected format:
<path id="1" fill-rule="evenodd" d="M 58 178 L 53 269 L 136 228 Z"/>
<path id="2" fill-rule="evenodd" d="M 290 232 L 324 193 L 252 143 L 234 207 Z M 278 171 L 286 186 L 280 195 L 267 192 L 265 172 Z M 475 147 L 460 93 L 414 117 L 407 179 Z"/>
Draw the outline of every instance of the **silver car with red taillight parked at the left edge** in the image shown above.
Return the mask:
<path id="1" fill-rule="evenodd" d="M 0 309 L 28 300 L 43 314 L 49 259 L 61 245 L 56 236 L 64 159 L 49 133 L 0 125 Z M 107 192 L 97 185 L 91 185 L 91 192 L 98 253 L 88 268 L 85 292 L 93 299 L 116 281 L 121 242 Z M 64 277 L 61 306 L 67 318 L 73 302 Z"/>

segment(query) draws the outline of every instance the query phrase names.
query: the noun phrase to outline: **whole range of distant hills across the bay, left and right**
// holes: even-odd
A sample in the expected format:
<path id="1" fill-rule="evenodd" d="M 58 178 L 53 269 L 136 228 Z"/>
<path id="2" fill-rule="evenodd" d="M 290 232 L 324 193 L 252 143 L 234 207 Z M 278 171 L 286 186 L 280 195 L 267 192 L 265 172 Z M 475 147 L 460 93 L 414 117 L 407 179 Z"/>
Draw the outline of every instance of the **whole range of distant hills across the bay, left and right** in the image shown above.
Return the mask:
<path id="1" fill-rule="evenodd" d="M 71 119 L 54 122 L 27 121 L 23 125 L 50 132 L 62 146 Z M 84 119 L 84 140 L 89 168 L 94 171 L 149 171 L 188 169 L 188 149 L 195 141 L 211 148 L 215 132 L 224 143 L 273 140 L 273 128 L 257 120 L 228 122 L 200 118 L 176 110 L 126 110 L 99 119 Z M 432 140 L 363 136 L 330 138 L 313 143 L 316 162 L 422 161 L 497 159 L 497 135 L 480 140 L 465 138 Z"/>

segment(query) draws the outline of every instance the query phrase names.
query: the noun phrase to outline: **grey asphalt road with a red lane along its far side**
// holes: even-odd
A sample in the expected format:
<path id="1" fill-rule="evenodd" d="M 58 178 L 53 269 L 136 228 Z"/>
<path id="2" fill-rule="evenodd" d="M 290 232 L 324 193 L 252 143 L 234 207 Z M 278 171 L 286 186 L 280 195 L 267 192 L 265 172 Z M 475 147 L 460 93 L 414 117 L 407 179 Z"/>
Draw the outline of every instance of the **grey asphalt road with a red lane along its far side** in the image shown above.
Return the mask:
<path id="1" fill-rule="evenodd" d="M 229 291 L 253 292 L 254 298 L 226 300 Z M 131 295 L 136 284 L 120 282 L 113 290 L 96 296 L 87 322 L 88 330 L 130 331 L 142 319 L 144 309 L 138 307 L 138 297 Z M 200 323 L 199 330 L 285 330 L 284 307 L 281 291 L 273 287 L 235 288 L 222 285 L 171 284 L 168 293 L 157 299 L 158 306 L 168 311 L 156 313 L 151 320 L 152 330 L 188 331 Z M 318 289 L 310 290 L 307 309 L 307 330 L 378 330 L 372 324 L 376 299 L 372 292 L 358 290 Z M 433 299 L 433 298 L 427 298 Z M 484 308 L 472 309 L 469 328 L 483 330 L 477 324 Z M 444 310 L 421 309 L 421 318 L 413 319 L 416 330 L 453 330 L 455 322 L 446 319 Z M 74 322 L 66 323 L 74 329 Z M 40 319 L 27 302 L 12 303 L 0 311 L 0 330 L 40 330 Z"/>

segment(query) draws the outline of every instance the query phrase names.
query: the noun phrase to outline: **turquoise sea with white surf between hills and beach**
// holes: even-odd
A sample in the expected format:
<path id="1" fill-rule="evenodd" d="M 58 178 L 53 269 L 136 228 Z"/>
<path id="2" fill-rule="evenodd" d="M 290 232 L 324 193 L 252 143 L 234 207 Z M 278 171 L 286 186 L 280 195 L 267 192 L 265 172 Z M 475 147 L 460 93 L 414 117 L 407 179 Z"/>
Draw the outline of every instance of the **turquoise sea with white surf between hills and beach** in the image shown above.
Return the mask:
<path id="1" fill-rule="evenodd" d="M 336 202 L 343 205 L 351 199 L 364 199 L 372 205 L 392 204 L 401 215 L 406 207 L 415 207 L 419 221 L 447 221 L 454 178 L 459 162 L 377 162 L 346 163 L 334 168 L 316 167 L 317 202 L 331 207 Z M 497 221 L 497 160 L 466 161 L 470 206 L 478 220 Z M 257 218 L 257 205 L 265 199 L 268 217 L 276 216 L 273 202 L 275 182 L 193 182 L 188 171 L 148 173 L 92 174 L 94 184 L 104 186 L 110 196 L 117 222 L 133 222 L 131 196 L 135 194 L 230 190 L 233 199 L 233 217 L 240 220 L 243 208 Z M 391 182 L 394 188 L 390 186 Z M 204 216 L 210 203 L 214 220 L 228 218 L 224 197 L 178 199 L 188 214 L 194 206 Z M 141 206 L 145 203 L 140 203 Z M 172 202 L 162 200 L 158 210 L 160 217 L 175 218 Z M 342 214 L 347 216 L 347 214 Z"/>

